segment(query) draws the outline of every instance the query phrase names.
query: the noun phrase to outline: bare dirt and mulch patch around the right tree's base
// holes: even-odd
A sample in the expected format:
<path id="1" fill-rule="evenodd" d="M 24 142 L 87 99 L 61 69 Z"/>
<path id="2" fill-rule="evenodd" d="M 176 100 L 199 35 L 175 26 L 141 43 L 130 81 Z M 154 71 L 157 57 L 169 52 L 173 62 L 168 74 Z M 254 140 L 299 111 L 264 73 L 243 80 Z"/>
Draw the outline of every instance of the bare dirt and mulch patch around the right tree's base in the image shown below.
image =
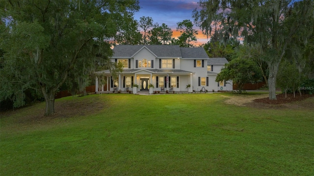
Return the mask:
<path id="1" fill-rule="evenodd" d="M 227 97 L 227 96 L 225 96 Z M 268 94 L 261 95 L 236 95 L 228 97 L 225 102 L 228 104 L 235 104 L 238 106 L 251 106 L 256 108 L 289 108 L 289 109 L 313 109 L 314 108 L 314 95 L 304 94 L 300 96 L 299 94 L 293 97 L 293 94 L 276 95 L 277 100 L 269 100 Z"/>

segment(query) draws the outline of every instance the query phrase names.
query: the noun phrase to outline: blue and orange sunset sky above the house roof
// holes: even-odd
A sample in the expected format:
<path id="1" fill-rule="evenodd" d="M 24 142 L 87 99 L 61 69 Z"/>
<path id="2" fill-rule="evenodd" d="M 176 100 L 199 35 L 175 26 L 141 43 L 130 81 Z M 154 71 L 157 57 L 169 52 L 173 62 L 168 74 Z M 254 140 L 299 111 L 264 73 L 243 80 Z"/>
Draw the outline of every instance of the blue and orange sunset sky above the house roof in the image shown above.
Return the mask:
<path id="1" fill-rule="evenodd" d="M 141 6 L 139 12 L 135 13 L 134 19 L 139 21 L 140 17 L 152 17 L 154 24 L 166 24 L 173 31 L 173 37 L 178 37 L 179 32 L 176 31 L 177 23 L 183 20 L 192 19 L 192 11 L 199 8 L 199 0 L 139 0 Z M 198 30 L 197 44 L 206 43 L 207 37 L 202 34 L 199 27 L 194 26 Z"/>

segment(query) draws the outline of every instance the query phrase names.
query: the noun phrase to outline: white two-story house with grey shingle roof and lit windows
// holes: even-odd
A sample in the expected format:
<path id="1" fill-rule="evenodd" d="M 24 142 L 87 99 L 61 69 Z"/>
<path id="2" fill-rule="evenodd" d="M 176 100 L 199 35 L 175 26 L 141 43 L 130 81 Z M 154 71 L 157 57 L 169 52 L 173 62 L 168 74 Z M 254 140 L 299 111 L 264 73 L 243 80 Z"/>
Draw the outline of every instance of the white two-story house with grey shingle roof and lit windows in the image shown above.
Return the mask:
<path id="1" fill-rule="evenodd" d="M 203 48 L 118 45 L 113 52 L 111 61 L 121 62 L 123 72 L 117 77 L 112 77 L 109 70 L 97 72 L 105 74 L 108 91 L 129 90 L 133 84 L 139 85 L 138 91 L 148 91 L 149 84 L 156 91 L 232 90 L 231 81 L 228 81 L 231 84 L 215 82 L 217 73 L 228 63 L 226 58 L 209 58 Z M 186 88 L 188 84 L 190 88 Z M 96 77 L 96 92 L 99 91 L 104 91 L 104 86 L 98 85 Z"/>

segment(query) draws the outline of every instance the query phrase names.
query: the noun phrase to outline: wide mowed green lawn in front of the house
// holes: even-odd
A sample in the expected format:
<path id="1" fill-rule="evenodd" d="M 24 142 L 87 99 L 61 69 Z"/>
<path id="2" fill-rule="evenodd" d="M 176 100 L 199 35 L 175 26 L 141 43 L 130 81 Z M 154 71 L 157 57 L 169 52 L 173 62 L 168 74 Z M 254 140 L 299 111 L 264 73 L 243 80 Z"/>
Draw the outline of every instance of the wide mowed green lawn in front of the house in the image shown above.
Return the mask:
<path id="1" fill-rule="evenodd" d="M 94 114 L 26 121 L 39 103 L 1 115 L 0 176 L 314 175 L 314 110 L 225 99 L 103 94 L 56 100 L 102 104 Z"/>

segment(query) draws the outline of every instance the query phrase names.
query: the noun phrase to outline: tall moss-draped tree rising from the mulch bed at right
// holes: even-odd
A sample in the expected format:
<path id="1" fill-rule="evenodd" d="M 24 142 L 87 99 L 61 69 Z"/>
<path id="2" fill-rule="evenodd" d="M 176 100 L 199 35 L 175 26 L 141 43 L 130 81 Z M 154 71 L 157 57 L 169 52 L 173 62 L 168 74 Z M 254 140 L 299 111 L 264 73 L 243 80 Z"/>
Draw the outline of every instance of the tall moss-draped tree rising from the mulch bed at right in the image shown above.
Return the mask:
<path id="1" fill-rule="evenodd" d="M 277 72 L 287 45 L 307 41 L 312 34 L 314 1 L 200 0 L 200 6 L 193 17 L 203 33 L 211 35 L 214 24 L 221 41 L 237 36 L 261 49 L 269 68 L 269 99 L 275 100 Z"/>

